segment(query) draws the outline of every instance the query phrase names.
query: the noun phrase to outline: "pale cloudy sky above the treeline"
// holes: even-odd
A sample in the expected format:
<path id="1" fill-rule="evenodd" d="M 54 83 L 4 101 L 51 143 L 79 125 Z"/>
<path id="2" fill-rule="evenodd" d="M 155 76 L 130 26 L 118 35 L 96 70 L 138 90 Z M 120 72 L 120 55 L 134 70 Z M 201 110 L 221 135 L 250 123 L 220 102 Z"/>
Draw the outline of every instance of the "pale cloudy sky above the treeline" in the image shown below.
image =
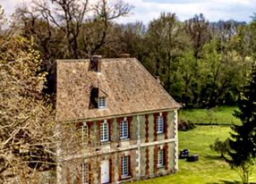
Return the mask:
<path id="1" fill-rule="evenodd" d="M 203 13 L 208 21 L 251 21 L 256 13 L 256 0 L 124 0 L 133 6 L 132 13 L 118 22 L 149 21 L 158 19 L 160 13 L 175 13 L 180 21 Z M 0 0 L 5 13 L 13 13 L 18 4 L 30 4 L 30 0 Z"/>

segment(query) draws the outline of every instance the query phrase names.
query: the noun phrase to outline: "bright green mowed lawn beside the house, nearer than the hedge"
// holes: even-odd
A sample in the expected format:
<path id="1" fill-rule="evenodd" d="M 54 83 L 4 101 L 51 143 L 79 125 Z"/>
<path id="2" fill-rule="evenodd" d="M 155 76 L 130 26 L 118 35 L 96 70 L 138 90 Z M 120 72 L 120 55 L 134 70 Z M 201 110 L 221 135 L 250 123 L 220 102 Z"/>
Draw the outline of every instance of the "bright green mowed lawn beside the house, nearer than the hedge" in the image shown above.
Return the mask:
<path id="1" fill-rule="evenodd" d="M 187 163 L 179 160 L 179 171 L 173 175 L 152 180 L 141 180 L 138 184 L 201 184 L 201 183 L 240 183 L 238 173 L 231 170 L 229 165 L 214 151 L 209 149 L 216 138 L 221 140 L 229 136 L 228 126 L 197 126 L 189 131 L 179 131 L 179 150 L 188 148 L 190 154 L 198 154 L 199 161 Z M 256 183 L 256 167 L 253 168 L 250 181 Z"/>

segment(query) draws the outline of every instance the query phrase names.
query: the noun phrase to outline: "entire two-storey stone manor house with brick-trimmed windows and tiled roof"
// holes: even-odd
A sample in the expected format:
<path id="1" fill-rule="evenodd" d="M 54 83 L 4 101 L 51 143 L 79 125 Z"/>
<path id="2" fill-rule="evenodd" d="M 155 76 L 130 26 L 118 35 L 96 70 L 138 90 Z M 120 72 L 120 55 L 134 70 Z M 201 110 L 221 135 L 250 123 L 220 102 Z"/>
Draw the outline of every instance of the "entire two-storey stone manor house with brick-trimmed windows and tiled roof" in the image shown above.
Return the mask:
<path id="1" fill-rule="evenodd" d="M 58 183 L 123 183 L 178 170 L 180 105 L 137 59 L 55 64 Z"/>

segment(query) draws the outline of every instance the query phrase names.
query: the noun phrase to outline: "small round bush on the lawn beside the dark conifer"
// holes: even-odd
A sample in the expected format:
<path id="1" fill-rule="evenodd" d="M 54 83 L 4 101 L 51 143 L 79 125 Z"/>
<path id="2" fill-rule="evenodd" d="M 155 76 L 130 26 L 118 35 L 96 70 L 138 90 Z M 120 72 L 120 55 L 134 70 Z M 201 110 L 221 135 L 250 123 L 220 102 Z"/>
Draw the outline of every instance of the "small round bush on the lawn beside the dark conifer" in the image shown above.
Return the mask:
<path id="1" fill-rule="evenodd" d="M 219 138 L 216 138 L 214 144 L 209 145 L 209 148 L 220 154 L 220 157 L 226 158 L 226 154 L 229 151 L 229 139 L 226 138 L 225 141 L 221 141 Z"/>

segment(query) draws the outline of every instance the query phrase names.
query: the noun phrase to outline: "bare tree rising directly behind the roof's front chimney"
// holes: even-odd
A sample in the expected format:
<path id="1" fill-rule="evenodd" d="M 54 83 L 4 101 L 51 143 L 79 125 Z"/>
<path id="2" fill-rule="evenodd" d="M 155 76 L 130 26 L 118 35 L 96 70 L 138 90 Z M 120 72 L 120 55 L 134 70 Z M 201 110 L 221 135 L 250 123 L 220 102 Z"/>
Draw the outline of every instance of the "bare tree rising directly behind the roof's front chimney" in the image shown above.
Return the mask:
<path id="1" fill-rule="evenodd" d="M 124 17 L 131 10 L 132 6 L 125 4 L 122 0 L 98 0 L 96 4 L 93 4 L 93 17 L 82 25 L 81 31 L 82 45 L 87 57 L 95 54 L 102 46 L 109 44 L 110 41 L 107 35 L 111 32 L 110 29 L 113 28 L 112 21 Z"/>

